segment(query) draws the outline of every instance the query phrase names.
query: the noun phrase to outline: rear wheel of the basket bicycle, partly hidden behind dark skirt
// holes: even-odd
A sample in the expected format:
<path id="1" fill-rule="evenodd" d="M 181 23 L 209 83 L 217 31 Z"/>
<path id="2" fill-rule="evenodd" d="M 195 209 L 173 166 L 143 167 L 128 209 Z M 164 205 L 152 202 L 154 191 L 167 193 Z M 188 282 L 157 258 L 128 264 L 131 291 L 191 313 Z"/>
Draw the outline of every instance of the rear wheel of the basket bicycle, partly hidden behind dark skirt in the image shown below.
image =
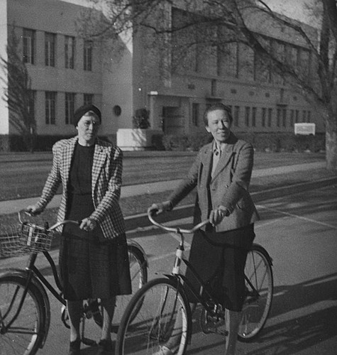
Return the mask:
<path id="1" fill-rule="evenodd" d="M 120 295 L 116 297 L 116 307 L 111 323 L 111 332 L 118 332 L 118 327 L 128 302 L 130 302 L 133 295 L 148 282 L 148 267 L 143 252 L 136 246 L 128 246 L 128 259 L 130 262 L 132 293 L 131 295 Z M 137 310 L 135 310 L 133 317 L 136 316 L 136 311 Z"/>

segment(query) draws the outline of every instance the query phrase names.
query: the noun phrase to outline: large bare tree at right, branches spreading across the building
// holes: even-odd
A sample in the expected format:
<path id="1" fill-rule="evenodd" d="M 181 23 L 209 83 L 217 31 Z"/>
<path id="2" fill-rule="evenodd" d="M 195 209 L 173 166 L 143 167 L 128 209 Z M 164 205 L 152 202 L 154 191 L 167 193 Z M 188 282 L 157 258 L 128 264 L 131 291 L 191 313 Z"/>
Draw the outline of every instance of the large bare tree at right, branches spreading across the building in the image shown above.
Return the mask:
<path id="1" fill-rule="evenodd" d="M 171 6 L 184 16 L 173 20 L 167 11 Z M 250 48 L 260 77 L 290 85 L 314 103 L 326 126 L 327 168 L 337 170 L 336 0 L 315 0 L 311 10 L 317 28 L 272 12 L 262 0 L 95 0 L 93 8 L 104 16 L 95 21 L 88 10 L 79 21 L 82 33 L 113 38 L 132 29 L 133 36 L 141 33 L 146 38 L 150 50 L 165 55 L 166 60 L 160 60 L 172 73 L 191 65 L 191 53 L 205 58 L 214 51 L 226 55 L 231 43 Z M 271 40 L 270 28 L 296 39 L 305 50 L 294 55 L 291 48 Z"/>

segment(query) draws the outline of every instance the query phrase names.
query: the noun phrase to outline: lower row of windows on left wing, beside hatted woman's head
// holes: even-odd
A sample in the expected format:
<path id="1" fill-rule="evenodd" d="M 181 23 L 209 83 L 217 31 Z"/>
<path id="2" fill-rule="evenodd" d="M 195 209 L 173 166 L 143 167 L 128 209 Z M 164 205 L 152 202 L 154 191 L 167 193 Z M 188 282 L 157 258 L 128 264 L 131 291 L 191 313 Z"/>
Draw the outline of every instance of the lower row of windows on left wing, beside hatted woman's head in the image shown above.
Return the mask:
<path id="1" fill-rule="evenodd" d="M 56 107 L 57 107 L 57 92 L 45 92 L 45 124 L 56 124 Z M 74 115 L 75 98 L 77 94 L 74 92 L 65 92 L 65 124 L 72 124 Z M 92 104 L 94 94 L 83 94 L 83 104 Z M 35 92 L 31 92 L 31 100 L 29 111 L 35 112 Z"/>

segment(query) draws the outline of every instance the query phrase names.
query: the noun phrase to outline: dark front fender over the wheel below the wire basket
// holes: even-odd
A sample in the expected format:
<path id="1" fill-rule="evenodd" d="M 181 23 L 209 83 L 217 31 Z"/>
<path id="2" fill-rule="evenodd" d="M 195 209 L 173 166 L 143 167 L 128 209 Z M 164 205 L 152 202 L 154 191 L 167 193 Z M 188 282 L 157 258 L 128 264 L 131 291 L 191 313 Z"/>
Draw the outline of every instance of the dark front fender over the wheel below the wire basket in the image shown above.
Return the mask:
<path id="1" fill-rule="evenodd" d="M 22 278 L 23 280 L 27 279 L 27 272 L 26 270 L 19 269 L 19 268 L 8 268 L 6 270 L 0 271 L 0 278 L 6 277 L 6 276 L 16 276 L 18 278 Z M 40 297 L 43 298 L 43 302 L 45 305 L 45 332 L 43 334 L 43 340 L 40 343 L 40 349 L 43 348 L 45 345 L 45 340 L 47 339 L 48 332 L 49 332 L 49 327 L 50 327 L 50 301 L 48 298 L 47 293 L 45 292 L 45 288 L 43 287 L 42 283 L 38 278 L 33 274 L 31 278 L 31 283 L 35 286 L 35 288 L 38 289 L 40 292 Z"/>

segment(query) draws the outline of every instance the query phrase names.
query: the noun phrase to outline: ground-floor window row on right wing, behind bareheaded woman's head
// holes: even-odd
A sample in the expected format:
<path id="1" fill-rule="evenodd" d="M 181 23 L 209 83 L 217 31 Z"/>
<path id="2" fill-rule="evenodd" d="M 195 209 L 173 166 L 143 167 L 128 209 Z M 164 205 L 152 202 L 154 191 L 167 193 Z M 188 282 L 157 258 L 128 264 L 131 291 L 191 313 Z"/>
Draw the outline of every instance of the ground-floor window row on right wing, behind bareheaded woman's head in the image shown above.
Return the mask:
<path id="1" fill-rule="evenodd" d="M 311 111 L 284 108 L 267 108 L 267 107 L 239 107 L 229 106 L 233 115 L 233 126 L 236 127 L 272 127 L 273 116 L 276 111 L 275 124 L 273 126 L 292 128 L 294 124 L 299 122 L 310 122 Z M 243 109 L 244 116 L 241 111 Z M 199 126 L 199 104 L 192 104 L 192 124 Z"/>

